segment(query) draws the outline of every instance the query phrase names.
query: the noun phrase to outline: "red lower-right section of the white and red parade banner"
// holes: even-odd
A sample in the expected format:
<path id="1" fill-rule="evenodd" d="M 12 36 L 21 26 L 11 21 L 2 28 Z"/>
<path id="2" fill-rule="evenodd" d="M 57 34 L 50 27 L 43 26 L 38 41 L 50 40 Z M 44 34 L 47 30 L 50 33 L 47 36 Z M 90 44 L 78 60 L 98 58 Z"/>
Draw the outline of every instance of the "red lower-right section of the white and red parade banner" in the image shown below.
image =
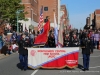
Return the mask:
<path id="1" fill-rule="evenodd" d="M 78 52 L 65 55 L 63 57 L 60 57 L 59 59 L 56 59 L 52 62 L 48 62 L 44 65 L 42 65 L 42 68 L 74 68 L 78 65 Z"/>

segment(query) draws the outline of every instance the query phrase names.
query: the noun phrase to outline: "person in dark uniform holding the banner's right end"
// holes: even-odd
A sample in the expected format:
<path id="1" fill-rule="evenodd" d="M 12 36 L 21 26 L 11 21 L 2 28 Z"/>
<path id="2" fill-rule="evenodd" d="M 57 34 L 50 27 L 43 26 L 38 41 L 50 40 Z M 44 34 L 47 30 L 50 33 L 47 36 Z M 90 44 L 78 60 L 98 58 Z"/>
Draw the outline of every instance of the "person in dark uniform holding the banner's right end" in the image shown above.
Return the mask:
<path id="1" fill-rule="evenodd" d="M 82 54 L 83 54 L 83 71 L 89 70 L 90 54 L 93 53 L 93 45 L 91 40 L 86 36 L 82 39 Z"/>

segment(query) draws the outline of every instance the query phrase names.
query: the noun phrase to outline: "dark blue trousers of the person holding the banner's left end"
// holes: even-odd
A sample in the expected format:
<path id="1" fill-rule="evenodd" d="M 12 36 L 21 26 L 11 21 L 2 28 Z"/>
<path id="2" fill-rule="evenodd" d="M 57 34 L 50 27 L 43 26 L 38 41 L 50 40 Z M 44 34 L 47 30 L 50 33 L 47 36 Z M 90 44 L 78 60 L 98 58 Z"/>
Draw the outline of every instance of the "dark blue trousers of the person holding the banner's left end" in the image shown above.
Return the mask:
<path id="1" fill-rule="evenodd" d="M 19 54 L 20 64 L 24 69 L 27 69 L 28 66 L 28 55 L 21 55 Z"/>

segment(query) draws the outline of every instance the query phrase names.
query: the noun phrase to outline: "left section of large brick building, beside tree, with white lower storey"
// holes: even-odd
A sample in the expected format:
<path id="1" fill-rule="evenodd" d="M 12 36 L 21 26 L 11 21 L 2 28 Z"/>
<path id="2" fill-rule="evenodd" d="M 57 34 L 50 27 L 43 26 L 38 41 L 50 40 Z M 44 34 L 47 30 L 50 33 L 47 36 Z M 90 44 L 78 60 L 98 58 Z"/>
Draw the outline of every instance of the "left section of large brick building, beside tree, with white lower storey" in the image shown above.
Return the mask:
<path id="1" fill-rule="evenodd" d="M 37 26 L 38 24 L 38 0 L 21 0 L 21 4 L 25 6 L 24 11 L 28 14 L 25 15 L 25 18 L 28 21 L 19 21 L 23 25 L 23 30 L 25 30 L 25 25 L 29 29 L 30 25 Z"/>

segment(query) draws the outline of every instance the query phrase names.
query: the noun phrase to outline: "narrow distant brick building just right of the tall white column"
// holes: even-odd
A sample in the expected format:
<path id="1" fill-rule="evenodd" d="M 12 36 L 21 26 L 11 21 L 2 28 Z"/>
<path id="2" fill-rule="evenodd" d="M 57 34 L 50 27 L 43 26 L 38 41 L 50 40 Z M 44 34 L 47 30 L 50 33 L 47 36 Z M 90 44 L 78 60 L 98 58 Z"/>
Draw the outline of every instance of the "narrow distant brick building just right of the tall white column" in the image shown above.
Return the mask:
<path id="1" fill-rule="evenodd" d="M 69 25 L 69 15 L 68 15 L 68 11 L 66 8 L 66 5 L 61 5 L 61 13 L 63 14 L 63 20 L 64 20 L 64 26 Z"/>

